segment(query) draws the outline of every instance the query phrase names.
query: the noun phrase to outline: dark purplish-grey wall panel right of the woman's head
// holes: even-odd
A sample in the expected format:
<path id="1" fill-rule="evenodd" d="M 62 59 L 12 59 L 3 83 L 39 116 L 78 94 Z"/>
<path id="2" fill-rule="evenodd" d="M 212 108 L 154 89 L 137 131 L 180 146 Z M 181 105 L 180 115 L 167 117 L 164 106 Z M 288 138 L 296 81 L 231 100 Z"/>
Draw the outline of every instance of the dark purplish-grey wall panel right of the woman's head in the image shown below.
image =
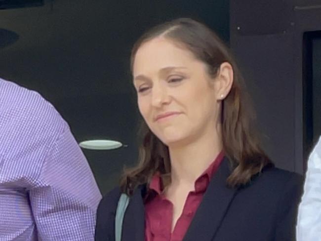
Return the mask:
<path id="1" fill-rule="evenodd" d="M 312 75 L 303 36 L 321 30 L 321 2 L 232 0 L 230 17 L 231 47 L 254 100 L 264 147 L 277 166 L 303 173 L 313 145 L 307 135 Z"/>

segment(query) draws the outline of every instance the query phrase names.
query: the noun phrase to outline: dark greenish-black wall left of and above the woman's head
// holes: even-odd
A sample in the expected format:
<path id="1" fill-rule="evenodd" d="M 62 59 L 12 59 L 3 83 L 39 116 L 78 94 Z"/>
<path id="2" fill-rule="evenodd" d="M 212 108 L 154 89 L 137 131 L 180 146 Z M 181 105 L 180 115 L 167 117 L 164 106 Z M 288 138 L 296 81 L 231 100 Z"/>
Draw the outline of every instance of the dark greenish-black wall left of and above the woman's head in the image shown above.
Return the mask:
<path id="1" fill-rule="evenodd" d="M 137 156 L 132 44 L 145 29 L 177 17 L 201 20 L 228 41 L 229 1 L 39 2 L 43 5 L 0 10 L 0 28 L 19 35 L 14 44 L 0 48 L 0 77 L 39 91 L 69 122 L 78 141 L 112 138 L 128 145 L 84 150 L 106 193 L 123 164 L 131 165 Z"/>

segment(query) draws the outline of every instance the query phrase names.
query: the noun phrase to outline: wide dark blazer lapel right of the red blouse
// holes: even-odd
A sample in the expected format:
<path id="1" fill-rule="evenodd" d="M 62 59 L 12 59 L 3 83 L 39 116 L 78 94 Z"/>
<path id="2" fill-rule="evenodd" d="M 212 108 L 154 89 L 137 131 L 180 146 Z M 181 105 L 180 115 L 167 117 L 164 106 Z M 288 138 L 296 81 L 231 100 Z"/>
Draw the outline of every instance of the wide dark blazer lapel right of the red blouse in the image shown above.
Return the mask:
<path id="1" fill-rule="evenodd" d="M 226 186 L 226 179 L 230 173 L 229 160 L 224 158 L 207 187 L 183 241 L 213 240 L 236 194 L 235 189 Z"/>

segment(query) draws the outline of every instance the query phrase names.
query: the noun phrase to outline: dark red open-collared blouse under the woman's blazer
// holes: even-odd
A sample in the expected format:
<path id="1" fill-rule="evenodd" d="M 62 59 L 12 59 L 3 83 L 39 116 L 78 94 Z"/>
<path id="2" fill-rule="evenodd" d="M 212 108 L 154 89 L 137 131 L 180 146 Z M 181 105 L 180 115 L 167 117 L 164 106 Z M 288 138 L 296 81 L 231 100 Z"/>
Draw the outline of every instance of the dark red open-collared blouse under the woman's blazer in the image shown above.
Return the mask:
<path id="1" fill-rule="evenodd" d="M 198 209 L 210 179 L 224 158 L 221 152 L 195 181 L 195 191 L 188 194 L 181 216 L 171 232 L 173 204 L 162 194 L 161 177 L 154 175 L 145 202 L 145 241 L 182 241 Z M 152 197 L 152 198 L 150 198 Z"/>

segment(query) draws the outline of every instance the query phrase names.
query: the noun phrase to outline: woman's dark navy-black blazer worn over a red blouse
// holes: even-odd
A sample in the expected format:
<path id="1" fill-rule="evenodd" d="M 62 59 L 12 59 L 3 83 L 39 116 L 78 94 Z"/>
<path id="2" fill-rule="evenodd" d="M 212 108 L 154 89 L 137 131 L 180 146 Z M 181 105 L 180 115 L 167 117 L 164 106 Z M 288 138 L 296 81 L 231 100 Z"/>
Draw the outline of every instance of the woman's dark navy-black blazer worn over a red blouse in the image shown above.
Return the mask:
<path id="1" fill-rule="evenodd" d="M 230 175 L 225 158 L 211 179 L 184 241 L 292 241 L 302 178 L 275 167 L 265 168 L 247 186 L 226 187 Z M 143 197 L 140 186 L 127 207 L 122 241 L 145 240 Z M 114 189 L 99 203 L 96 241 L 115 241 L 115 212 L 120 189 Z"/>

